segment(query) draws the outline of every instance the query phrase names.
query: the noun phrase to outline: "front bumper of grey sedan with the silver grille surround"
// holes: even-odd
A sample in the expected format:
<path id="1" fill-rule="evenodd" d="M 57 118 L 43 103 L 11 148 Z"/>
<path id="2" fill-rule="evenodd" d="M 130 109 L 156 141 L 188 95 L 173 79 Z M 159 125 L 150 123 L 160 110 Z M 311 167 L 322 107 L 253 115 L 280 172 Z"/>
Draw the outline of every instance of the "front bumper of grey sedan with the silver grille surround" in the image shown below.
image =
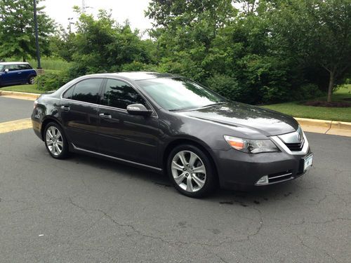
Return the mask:
<path id="1" fill-rule="evenodd" d="M 258 180 L 265 175 L 269 180 L 262 185 L 286 182 L 303 175 L 306 172 L 303 170 L 303 158 L 311 154 L 307 138 L 301 151 L 290 151 L 285 145 L 277 143 L 277 138 L 272 140 L 277 144 L 279 152 L 246 154 L 235 149 L 214 150 L 220 187 L 225 189 L 255 187 Z"/>

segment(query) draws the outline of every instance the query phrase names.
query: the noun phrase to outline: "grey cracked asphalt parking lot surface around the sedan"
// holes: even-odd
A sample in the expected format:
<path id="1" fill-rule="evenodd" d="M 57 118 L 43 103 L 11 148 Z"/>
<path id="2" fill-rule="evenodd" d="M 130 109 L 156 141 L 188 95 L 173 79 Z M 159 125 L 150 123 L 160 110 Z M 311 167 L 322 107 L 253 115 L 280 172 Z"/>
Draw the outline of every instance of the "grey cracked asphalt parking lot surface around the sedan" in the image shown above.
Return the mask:
<path id="1" fill-rule="evenodd" d="M 0 97 L 0 123 L 32 104 Z M 298 180 L 192 199 L 149 171 L 55 160 L 31 129 L 0 133 L 0 262 L 350 262 L 351 137 L 307 137 Z"/>

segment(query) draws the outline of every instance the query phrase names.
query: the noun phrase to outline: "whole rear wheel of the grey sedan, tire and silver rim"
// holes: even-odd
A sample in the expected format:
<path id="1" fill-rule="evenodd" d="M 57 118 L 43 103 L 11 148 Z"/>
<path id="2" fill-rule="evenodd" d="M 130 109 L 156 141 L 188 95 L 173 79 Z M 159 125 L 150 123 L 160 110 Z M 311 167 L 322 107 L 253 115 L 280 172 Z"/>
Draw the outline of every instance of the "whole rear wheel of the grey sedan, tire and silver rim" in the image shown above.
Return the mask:
<path id="1" fill-rule="evenodd" d="M 48 123 L 44 131 L 44 142 L 48 153 L 55 159 L 65 159 L 68 156 L 68 142 L 58 123 Z"/>

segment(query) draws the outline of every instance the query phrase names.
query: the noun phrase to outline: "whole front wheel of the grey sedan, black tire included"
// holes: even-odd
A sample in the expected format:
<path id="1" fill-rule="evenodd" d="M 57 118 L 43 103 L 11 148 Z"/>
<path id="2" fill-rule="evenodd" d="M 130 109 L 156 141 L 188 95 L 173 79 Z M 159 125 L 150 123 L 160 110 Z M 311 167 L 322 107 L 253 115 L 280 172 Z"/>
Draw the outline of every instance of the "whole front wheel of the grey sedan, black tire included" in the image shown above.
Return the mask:
<path id="1" fill-rule="evenodd" d="M 174 187 L 185 196 L 208 196 L 218 186 L 216 170 L 211 160 L 204 151 L 192 144 L 175 147 L 168 156 L 166 166 Z"/>

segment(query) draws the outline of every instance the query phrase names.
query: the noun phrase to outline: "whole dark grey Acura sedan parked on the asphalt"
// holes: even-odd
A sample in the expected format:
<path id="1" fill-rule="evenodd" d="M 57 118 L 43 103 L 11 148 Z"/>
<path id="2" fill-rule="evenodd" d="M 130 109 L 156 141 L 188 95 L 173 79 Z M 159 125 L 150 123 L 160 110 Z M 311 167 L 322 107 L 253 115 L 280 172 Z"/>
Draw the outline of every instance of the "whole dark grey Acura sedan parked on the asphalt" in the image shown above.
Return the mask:
<path id="1" fill-rule="evenodd" d="M 41 95 L 32 123 L 55 159 L 77 152 L 165 173 L 191 197 L 293 180 L 313 159 L 295 119 L 173 74 L 81 76 Z"/>

